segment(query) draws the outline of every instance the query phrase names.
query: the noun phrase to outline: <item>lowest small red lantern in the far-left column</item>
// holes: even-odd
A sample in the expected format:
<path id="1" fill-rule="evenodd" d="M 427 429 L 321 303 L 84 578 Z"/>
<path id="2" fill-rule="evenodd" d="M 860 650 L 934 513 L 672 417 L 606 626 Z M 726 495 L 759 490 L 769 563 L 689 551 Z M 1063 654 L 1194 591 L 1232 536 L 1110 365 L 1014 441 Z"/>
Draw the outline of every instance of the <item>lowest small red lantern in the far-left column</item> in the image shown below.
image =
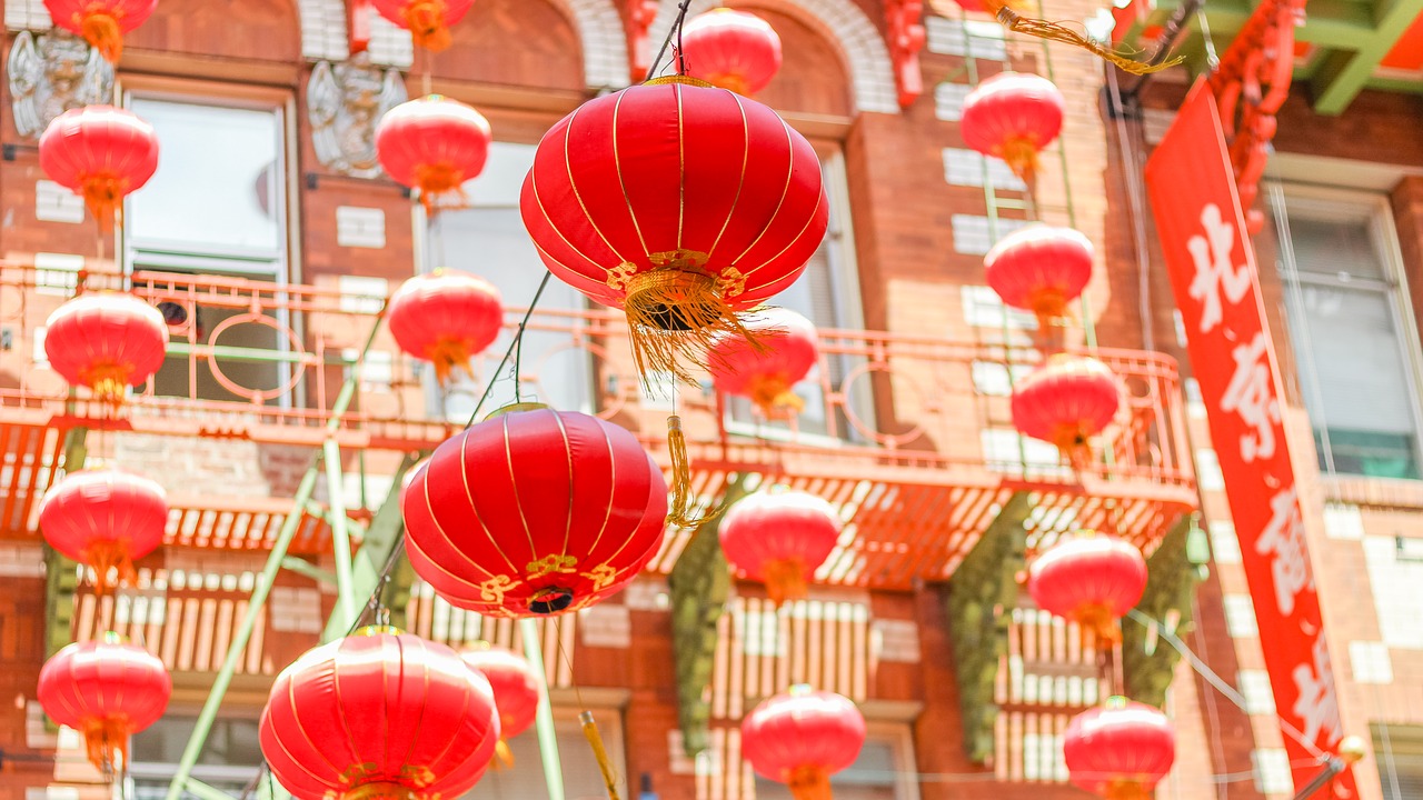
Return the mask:
<path id="1" fill-rule="evenodd" d="M 112 774 L 128 766 L 128 737 L 164 716 L 172 690 L 158 656 L 110 632 L 44 662 L 36 696 L 50 719 L 84 735 L 88 760 Z"/>

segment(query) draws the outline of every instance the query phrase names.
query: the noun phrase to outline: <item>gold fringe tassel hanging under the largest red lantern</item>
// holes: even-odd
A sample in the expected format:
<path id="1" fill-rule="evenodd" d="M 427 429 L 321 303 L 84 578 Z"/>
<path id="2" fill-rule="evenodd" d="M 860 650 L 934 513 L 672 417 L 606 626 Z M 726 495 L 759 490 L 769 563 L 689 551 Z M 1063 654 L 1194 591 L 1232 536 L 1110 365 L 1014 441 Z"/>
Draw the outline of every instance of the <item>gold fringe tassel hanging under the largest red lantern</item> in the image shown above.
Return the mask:
<path id="1" fill-rule="evenodd" d="M 632 357 L 643 384 L 647 376 L 670 373 L 682 383 L 697 386 L 684 363 L 704 363 L 706 352 L 720 335 L 740 336 L 761 352 L 760 337 L 741 325 L 721 298 L 717 279 L 696 268 L 700 253 L 655 253 L 653 263 L 667 263 L 630 278 L 609 278 L 609 285 L 626 290 L 623 312 L 630 327 Z M 629 265 L 630 266 L 630 265 Z"/>

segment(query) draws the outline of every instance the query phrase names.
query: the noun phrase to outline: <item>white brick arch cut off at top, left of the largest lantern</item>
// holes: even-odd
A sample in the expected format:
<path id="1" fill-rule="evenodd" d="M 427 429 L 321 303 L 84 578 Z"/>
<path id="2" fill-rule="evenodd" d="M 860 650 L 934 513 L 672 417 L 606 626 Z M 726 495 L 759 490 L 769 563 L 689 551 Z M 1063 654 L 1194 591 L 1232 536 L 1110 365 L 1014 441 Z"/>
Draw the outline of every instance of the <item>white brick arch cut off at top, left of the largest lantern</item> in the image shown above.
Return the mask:
<path id="1" fill-rule="evenodd" d="M 38 0 L 36 0 L 38 1 Z M 628 85 L 628 36 L 613 0 L 549 0 L 573 20 L 583 46 L 583 80 L 592 88 Z M 297 0 L 302 17 L 302 54 L 312 61 L 342 61 L 346 41 L 343 0 Z M 371 20 L 371 56 L 377 63 L 408 68 L 410 34 L 383 19 Z M 377 46 L 380 43 L 380 46 Z"/>

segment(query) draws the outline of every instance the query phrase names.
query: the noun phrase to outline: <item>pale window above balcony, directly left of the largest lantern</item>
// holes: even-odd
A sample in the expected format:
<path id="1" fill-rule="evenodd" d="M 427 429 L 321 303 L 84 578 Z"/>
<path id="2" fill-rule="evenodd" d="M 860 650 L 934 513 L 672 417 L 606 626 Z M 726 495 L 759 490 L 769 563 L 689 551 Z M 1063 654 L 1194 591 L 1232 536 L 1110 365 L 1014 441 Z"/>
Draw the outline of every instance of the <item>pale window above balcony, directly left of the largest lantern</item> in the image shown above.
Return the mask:
<path id="1" fill-rule="evenodd" d="M 519 189 L 524 177 L 534 167 L 534 149 L 535 145 L 531 144 L 494 142 L 484 172 L 464 185 L 470 208 L 445 209 L 430 221 L 427 269 L 445 266 L 472 272 L 494 283 L 504 296 L 505 307 L 511 310 L 528 307 L 546 272 L 519 216 Z M 539 312 L 578 312 L 586 309 L 588 303 L 572 286 L 554 279 L 544 289 L 538 307 Z M 592 411 L 589 354 L 569 347 L 572 336 L 568 332 L 538 329 L 538 319 L 535 316 L 531 327 L 524 332 L 522 373 L 536 376 L 535 384 L 525 384 L 527 394 L 556 409 Z M 545 316 L 544 320 L 565 327 L 564 320 L 556 317 Z M 477 360 L 480 381 L 470 380 L 457 370 L 443 396 L 438 389 L 431 389 L 435 416 L 460 423 L 470 419 L 484 384 L 492 377 L 487 373 L 504 357 L 511 337 L 512 332 L 505 330 Z M 494 390 L 491 403 L 485 404 L 487 411 L 512 400 L 509 369 L 505 367 L 505 373 L 498 376 L 507 386 Z M 433 386 L 434 380 L 427 384 Z"/>

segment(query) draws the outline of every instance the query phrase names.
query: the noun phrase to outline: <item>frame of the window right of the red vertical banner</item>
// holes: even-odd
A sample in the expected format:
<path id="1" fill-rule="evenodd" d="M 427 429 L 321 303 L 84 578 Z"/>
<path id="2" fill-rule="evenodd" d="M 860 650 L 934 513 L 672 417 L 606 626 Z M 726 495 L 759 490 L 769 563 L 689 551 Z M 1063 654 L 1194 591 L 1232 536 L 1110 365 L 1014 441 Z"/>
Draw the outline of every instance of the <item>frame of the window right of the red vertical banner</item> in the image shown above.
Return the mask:
<path id="1" fill-rule="evenodd" d="M 1412 478 L 1382 478 L 1355 473 L 1340 473 L 1335 467 L 1333 453 L 1329 444 L 1328 417 L 1315 420 L 1311 414 L 1311 428 L 1322 431 L 1323 447 L 1318 453 L 1321 471 L 1329 477 L 1346 480 L 1405 480 L 1423 481 L 1423 343 L 1419 342 L 1417 317 L 1409 295 L 1407 275 L 1403 265 L 1403 251 L 1399 246 L 1399 233 L 1393 222 L 1393 209 L 1385 192 L 1348 188 L 1322 186 L 1271 178 L 1265 181 L 1269 212 L 1275 223 L 1275 239 L 1278 248 L 1276 269 L 1282 283 L 1285 299 L 1285 326 L 1289 336 L 1291 349 L 1295 353 L 1295 374 L 1299 383 L 1301 400 L 1311 396 L 1316 407 L 1323 414 L 1319 396 L 1319 376 L 1313 366 L 1302 363 L 1301 352 L 1309 347 L 1309 325 L 1296 323 L 1296 312 L 1291 306 L 1299 307 L 1298 292 L 1302 286 L 1329 286 L 1349 290 L 1363 290 L 1382 293 L 1390 312 L 1390 322 L 1395 329 L 1395 340 L 1399 344 L 1399 354 L 1403 360 L 1403 381 L 1409 393 L 1409 416 L 1413 423 L 1413 444 L 1417 457 L 1419 477 Z M 1382 278 L 1349 278 L 1339 279 L 1338 273 L 1331 278 L 1322 273 L 1302 272 L 1295 259 L 1294 236 L 1291 233 L 1291 209 L 1306 209 L 1309 212 L 1343 212 L 1352 218 L 1353 212 L 1363 211 L 1373 241 L 1375 253 L 1380 260 Z M 1298 330 L 1296 330 L 1298 326 Z M 1301 336 L 1303 339 L 1301 342 Z M 1303 347 L 1301 347 L 1303 344 Z M 1305 403 L 1308 413 L 1308 401 Z"/>

